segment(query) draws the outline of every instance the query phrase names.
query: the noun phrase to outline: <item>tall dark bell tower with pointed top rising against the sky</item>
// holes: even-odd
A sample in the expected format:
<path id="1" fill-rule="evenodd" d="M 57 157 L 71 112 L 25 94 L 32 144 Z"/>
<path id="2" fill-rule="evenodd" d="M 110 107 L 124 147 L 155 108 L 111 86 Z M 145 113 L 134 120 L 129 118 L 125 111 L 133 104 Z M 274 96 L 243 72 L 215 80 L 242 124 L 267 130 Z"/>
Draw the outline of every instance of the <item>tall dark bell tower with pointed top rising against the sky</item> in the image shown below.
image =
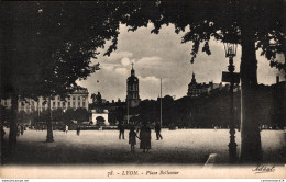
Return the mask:
<path id="1" fill-rule="evenodd" d="M 140 103 L 140 96 L 139 96 L 139 79 L 135 77 L 135 70 L 133 68 L 131 69 L 131 76 L 128 78 L 128 95 L 127 95 L 127 102 L 130 107 L 138 106 Z"/>

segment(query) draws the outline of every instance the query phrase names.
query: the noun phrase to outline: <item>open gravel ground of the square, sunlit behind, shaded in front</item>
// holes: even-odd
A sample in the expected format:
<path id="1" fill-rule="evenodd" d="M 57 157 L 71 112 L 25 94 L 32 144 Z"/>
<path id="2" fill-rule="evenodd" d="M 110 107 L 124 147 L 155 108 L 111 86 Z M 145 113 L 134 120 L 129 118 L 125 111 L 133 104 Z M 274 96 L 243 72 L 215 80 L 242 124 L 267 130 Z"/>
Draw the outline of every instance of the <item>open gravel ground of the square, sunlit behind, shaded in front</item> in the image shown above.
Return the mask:
<path id="1" fill-rule="evenodd" d="M 45 143 L 46 130 L 25 130 L 18 138 L 16 147 L 8 150 L 9 130 L 2 144 L 2 164 L 204 164 L 210 153 L 218 153 L 218 164 L 228 163 L 228 129 L 163 129 L 163 140 L 156 140 L 152 130 L 152 149 L 143 153 L 135 146 L 130 152 L 125 139 L 119 140 L 118 130 L 76 130 L 67 134 L 54 130 L 54 143 Z M 286 163 L 285 132 L 262 130 L 262 148 L 265 163 Z M 240 133 L 237 132 L 238 151 Z"/>

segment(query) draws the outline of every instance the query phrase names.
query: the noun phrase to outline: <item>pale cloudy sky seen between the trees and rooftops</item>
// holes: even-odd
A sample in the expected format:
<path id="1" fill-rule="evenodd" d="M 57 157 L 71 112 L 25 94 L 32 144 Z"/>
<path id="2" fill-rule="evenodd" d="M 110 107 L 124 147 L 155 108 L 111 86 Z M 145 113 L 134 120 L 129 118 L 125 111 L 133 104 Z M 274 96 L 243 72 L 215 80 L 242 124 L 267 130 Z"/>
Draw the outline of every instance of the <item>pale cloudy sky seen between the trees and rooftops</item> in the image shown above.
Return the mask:
<path id="1" fill-rule="evenodd" d="M 140 98 L 156 99 L 160 95 L 160 78 L 163 80 L 163 95 L 185 96 L 191 72 L 196 73 L 197 82 L 221 81 L 221 72 L 228 69 L 228 59 L 224 56 L 221 42 L 210 42 L 211 55 L 200 52 L 195 64 L 190 64 L 191 43 L 182 44 L 184 33 L 176 34 L 174 25 L 163 26 L 160 34 L 151 34 L 153 25 L 140 27 L 135 32 L 128 32 L 125 25 L 120 26 L 118 49 L 110 57 L 103 57 L 101 50 L 98 59 L 101 70 L 92 73 L 87 80 L 79 81 L 79 86 L 91 93 L 100 92 L 108 101 L 122 101 L 127 96 L 127 79 L 130 76 L 131 62 L 134 62 L 135 76 L 140 81 Z M 201 47 L 200 47 L 201 50 Z M 240 71 L 241 47 L 234 57 L 235 71 Z M 272 84 L 276 76 L 282 73 L 270 67 L 268 60 L 260 56 L 258 83 Z"/>

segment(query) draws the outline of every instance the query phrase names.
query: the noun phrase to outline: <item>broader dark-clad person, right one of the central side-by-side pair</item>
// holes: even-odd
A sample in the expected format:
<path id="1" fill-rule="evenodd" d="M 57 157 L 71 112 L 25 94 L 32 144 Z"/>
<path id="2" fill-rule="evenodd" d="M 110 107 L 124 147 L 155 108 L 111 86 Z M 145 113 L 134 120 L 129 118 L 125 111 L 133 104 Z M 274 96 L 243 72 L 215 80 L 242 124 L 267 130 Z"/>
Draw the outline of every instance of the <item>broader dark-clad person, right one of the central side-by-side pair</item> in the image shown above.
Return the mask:
<path id="1" fill-rule="evenodd" d="M 143 149 L 143 152 L 148 152 L 151 149 L 151 128 L 146 123 L 143 123 L 143 126 L 140 129 L 140 149 Z"/>

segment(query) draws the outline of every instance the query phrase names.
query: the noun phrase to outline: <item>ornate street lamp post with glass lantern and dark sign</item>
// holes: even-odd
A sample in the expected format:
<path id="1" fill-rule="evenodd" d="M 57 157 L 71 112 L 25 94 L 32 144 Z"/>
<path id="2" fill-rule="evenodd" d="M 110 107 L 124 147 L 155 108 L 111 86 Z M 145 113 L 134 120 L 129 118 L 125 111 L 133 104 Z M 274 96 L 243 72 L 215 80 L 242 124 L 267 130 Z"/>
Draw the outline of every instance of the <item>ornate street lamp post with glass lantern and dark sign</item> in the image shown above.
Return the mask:
<path id="1" fill-rule="evenodd" d="M 233 57 L 237 56 L 237 44 L 224 43 L 226 57 L 229 58 L 229 72 L 223 72 L 222 81 L 230 82 L 230 143 L 229 143 L 229 161 L 234 163 L 237 157 L 237 143 L 235 143 L 235 129 L 234 129 L 234 107 L 233 107 L 233 87 L 234 82 L 238 83 L 240 80 L 239 73 L 234 73 L 235 67 L 233 65 Z M 222 75 L 223 75 L 222 73 Z"/>

